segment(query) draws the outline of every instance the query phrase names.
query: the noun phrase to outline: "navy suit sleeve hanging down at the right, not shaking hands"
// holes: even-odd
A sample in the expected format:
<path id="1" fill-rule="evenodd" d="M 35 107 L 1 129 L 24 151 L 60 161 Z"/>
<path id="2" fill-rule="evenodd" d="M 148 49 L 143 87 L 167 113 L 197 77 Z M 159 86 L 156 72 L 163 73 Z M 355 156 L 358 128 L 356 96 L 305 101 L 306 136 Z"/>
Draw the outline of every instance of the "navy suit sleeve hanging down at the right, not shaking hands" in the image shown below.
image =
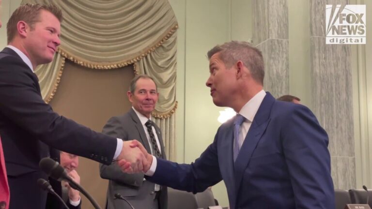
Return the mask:
<path id="1" fill-rule="evenodd" d="M 296 107 L 281 134 L 296 208 L 334 208 L 328 136 L 307 107 Z"/>

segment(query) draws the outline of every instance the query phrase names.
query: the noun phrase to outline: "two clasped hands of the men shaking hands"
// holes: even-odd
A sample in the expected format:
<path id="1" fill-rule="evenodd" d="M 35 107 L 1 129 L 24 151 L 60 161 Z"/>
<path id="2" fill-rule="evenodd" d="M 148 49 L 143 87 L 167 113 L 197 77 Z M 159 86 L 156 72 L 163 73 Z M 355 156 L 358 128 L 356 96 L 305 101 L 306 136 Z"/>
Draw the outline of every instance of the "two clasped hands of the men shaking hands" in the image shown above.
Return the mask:
<path id="1" fill-rule="evenodd" d="M 124 173 L 146 173 L 153 163 L 153 156 L 137 140 L 123 141 L 117 163 Z"/>

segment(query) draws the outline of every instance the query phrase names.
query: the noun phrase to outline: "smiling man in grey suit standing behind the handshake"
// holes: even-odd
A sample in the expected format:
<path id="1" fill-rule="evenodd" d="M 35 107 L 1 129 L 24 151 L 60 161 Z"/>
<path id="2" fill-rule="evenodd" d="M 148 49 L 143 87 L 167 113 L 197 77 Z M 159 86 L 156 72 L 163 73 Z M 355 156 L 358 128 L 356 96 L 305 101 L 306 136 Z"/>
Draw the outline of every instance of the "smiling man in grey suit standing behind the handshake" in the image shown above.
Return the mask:
<path id="1" fill-rule="evenodd" d="M 137 75 L 127 92 L 132 108 L 124 115 L 112 117 L 103 128 L 104 134 L 123 140 L 137 139 L 148 153 L 166 159 L 159 127 L 152 120 L 159 93 L 153 78 Z M 100 164 L 103 179 L 109 179 L 107 209 L 130 209 L 114 194 L 124 196 L 136 209 L 167 209 L 167 187 L 144 179 L 143 173 L 123 174 L 117 164 Z"/>

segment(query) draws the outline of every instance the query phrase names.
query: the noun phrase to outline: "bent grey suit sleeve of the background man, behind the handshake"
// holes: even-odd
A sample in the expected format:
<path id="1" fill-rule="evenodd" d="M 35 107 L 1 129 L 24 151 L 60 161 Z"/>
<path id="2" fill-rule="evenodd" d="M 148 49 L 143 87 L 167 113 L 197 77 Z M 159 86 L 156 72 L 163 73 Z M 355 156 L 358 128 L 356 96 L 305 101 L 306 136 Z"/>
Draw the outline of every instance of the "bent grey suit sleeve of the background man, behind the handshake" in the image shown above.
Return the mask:
<path id="1" fill-rule="evenodd" d="M 125 130 L 124 124 L 122 124 L 117 117 L 112 117 L 109 119 L 104 126 L 102 133 L 121 138 L 124 141 L 130 140 L 128 139 L 128 134 Z M 126 174 L 122 172 L 121 168 L 116 163 L 112 163 L 110 165 L 100 164 L 99 168 L 99 173 L 102 179 L 114 180 L 138 187 L 142 185 L 144 177 L 143 174 Z"/>

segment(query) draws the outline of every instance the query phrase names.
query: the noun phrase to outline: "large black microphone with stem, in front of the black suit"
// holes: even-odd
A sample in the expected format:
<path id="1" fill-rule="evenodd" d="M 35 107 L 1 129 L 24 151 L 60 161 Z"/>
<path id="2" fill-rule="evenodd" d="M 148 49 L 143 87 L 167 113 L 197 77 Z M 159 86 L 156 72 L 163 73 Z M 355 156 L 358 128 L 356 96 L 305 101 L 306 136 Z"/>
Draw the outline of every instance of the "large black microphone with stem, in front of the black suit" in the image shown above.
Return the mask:
<path id="1" fill-rule="evenodd" d="M 56 179 L 58 181 L 66 180 L 72 188 L 80 191 L 81 194 L 84 194 L 84 196 L 88 198 L 88 200 L 92 203 L 94 209 L 101 209 L 101 207 L 99 207 L 98 203 L 93 199 L 93 197 L 80 184 L 71 179 L 66 170 L 58 162 L 50 158 L 43 158 L 39 162 L 39 167 L 44 173 L 46 173 L 53 179 Z"/>

